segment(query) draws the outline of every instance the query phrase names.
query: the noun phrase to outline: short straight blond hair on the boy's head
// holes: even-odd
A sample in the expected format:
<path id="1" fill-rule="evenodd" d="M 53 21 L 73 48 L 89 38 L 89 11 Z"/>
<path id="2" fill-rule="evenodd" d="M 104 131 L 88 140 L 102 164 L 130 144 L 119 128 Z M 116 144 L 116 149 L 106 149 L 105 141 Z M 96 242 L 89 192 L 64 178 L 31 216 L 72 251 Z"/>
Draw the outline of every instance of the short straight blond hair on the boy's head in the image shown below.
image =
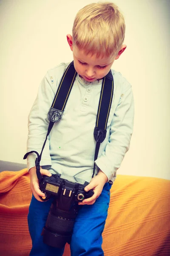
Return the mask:
<path id="1" fill-rule="evenodd" d="M 125 20 L 114 3 L 91 3 L 77 13 L 73 45 L 97 58 L 116 56 L 125 38 Z"/>

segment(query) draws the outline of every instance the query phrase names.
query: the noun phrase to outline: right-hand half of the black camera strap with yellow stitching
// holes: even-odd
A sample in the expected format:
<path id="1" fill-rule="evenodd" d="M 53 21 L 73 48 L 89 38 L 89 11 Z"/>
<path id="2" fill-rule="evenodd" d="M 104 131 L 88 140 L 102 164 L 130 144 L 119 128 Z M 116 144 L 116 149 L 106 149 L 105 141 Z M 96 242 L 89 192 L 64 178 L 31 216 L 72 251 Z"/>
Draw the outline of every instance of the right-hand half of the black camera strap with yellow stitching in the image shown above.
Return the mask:
<path id="1" fill-rule="evenodd" d="M 108 117 L 111 110 L 111 103 L 113 99 L 113 90 L 113 80 L 110 80 L 107 77 L 105 77 L 102 82 L 102 89 L 100 93 L 99 107 L 96 118 L 96 127 L 94 128 L 94 139 L 96 140 L 94 162 L 98 157 L 100 143 L 102 143 L 106 137 Z M 94 172 L 95 163 L 92 178 L 94 177 Z"/>

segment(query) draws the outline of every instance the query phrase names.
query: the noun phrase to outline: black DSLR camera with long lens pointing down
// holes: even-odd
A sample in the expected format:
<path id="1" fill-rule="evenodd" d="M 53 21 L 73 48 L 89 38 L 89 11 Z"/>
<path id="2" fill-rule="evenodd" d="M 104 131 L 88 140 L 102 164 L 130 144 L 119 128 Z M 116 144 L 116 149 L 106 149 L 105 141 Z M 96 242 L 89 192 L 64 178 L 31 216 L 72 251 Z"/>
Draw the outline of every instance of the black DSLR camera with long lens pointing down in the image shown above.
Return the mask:
<path id="1" fill-rule="evenodd" d="M 68 175 L 52 174 L 43 176 L 40 190 L 45 194 L 42 201 L 54 196 L 45 227 L 42 230 L 43 242 L 53 247 L 62 248 L 70 244 L 74 221 L 78 212 L 78 202 L 90 198 L 94 192 L 85 192 L 89 183 Z M 57 200 L 56 200 L 57 199 Z"/>

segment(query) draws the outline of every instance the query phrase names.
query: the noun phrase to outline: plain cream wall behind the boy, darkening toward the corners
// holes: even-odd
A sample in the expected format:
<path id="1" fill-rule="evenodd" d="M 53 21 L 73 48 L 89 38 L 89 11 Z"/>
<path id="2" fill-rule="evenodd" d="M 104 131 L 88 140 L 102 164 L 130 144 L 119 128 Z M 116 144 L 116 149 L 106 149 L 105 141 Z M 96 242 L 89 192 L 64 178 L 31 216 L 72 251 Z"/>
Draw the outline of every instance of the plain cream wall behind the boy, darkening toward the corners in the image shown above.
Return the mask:
<path id="1" fill-rule="evenodd" d="M 26 163 L 28 113 L 46 71 L 72 61 L 66 35 L 96 0 L 0 0 L 0 160 Z M 105 2 L 105 1 L 102 1 Z M 170 179 L 170 1 L 115 0 L 127 49 L 113 63 L 132 84 L 135 122 L 118 174 Z"/>

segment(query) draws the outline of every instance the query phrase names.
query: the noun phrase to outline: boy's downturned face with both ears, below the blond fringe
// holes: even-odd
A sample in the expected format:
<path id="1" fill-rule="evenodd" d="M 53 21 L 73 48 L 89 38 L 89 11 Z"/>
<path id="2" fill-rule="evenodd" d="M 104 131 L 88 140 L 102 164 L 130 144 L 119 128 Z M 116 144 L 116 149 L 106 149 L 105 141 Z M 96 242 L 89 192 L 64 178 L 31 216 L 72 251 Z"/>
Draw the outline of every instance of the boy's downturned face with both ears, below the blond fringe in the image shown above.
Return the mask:
<path id="1" fill-rule="evenodd" d="M 71 35 L 68 35 L 67 39 L 73 52 L 75 70 L 79 76 L 88 82 L 94 82 L 106 76 L 109 73 L 114 60 L 119 58 L 118 55 L 122 53 L 121 52 L 116 57 L 96 58 L 95 55 L 85 55 L 83 50 L 79 50 L 76 46 L 73 46 Z"/>

